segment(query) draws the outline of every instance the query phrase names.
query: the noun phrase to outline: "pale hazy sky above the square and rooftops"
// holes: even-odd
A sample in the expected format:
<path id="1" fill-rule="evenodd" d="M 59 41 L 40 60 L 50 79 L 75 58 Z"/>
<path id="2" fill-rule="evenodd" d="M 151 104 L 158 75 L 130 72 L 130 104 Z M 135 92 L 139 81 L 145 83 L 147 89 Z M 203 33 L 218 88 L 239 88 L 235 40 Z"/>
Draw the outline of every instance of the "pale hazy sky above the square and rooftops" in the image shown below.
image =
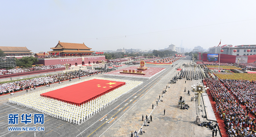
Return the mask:
<path id="1" fill-rule="evenodd" d="M 256 44 L 256 1 L 0 1 L 0 46 L 52 51 Z"/>

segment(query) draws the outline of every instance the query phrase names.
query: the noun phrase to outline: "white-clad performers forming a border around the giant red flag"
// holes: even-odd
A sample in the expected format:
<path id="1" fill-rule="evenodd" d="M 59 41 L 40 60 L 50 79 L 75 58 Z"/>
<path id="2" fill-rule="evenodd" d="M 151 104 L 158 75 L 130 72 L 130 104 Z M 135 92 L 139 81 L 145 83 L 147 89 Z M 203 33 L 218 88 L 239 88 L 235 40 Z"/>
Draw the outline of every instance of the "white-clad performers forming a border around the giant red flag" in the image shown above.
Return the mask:
<path id="1" fill-rule="evenodd" d="M 88 78 L 86 80 L 91 80 L 91 79 L 94 79 L 94 78 Z M 86 119 L 92 117 L 95 113 L 101 111 L 102 109 L 112 104 L 114 101 L 116 101 L 120 97 L 124 96 L 125 94 L 131 92 L 133 89 L 143 84 L 142 81 L 133 81 L 133 80 L 121 80 L 121 79 L 101 78 L 101 77 L 97 77 L 96 79 L 121 81 L 121 82 L 125 82 L 126 84 L 113 90 L 112 92 L 104 94 L 80 106 L 72 105 L 70 103 L 59 101 L 53 98 L 42 97 L 40 96 L 40 94 L 46 93 L 52 90 L 56 90 L 59 88 L 63 88 L 66 86 L 70 86 L 73 84 L 77 84 L 80 82 L 84 82 L 86 80 L 79 80 L 76 82 L 63 84 L 60 86 L 55 86 L 55 87 L 40 90 L 37 92 L 9 98 L 9 103 L 14 103 L 22 107 L 24 106 L 30 109 L 34 109 L 41 113 L 47 114 L 51 117 L 69 121 L 70 123 L 73 121 L 73 124 L 74 123 L 80 124 L 80 122 L 82 123 Z"/>

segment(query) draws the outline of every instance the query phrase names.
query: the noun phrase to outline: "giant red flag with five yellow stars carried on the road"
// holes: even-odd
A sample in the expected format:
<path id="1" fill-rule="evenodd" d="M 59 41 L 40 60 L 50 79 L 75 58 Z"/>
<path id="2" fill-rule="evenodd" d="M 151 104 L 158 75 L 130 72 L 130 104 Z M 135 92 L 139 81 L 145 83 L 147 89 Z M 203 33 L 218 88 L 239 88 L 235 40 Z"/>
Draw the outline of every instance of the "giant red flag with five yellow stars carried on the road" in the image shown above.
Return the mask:
<path id="1" fill-rule="evenodd" d="M 81 105 L 125 85 L 125 82 L 93 79 L 41 94 L 68 103 Z"/>

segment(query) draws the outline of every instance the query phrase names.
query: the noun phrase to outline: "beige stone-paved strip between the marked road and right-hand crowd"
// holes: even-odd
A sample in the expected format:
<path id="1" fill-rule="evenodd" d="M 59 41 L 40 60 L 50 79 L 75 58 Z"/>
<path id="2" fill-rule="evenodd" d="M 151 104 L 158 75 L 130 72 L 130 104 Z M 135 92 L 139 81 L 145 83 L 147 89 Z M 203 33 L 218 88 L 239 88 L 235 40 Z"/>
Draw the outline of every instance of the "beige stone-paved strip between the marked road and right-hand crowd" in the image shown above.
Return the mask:
<path id="1" fill-rule="evenodd" d="M 201 80 L 186 80 L 187 82 L 185 84 L 185 79 L 182 79 L 178 80 L 176 84 L 168 84 L 168 80 L 170 80 L 173 74 L 176 73 L 177 71 L 175 73 L 168 74 L 168 76 L 170 75 L 169 77 L 163 78 L 161 81 L 162 84 L 159 83 L 152 88 L 151 91 L 148 91 L 149 93 L 146 97 L 142 98 L 140 102 L 129 110 L 129 112 L 125 113 L 124 116 L 113 124 L 110 127 L 110 130 L 107 130 L 102 136 L 131 136 L 131 132 L 138 132 L 142 127 L 144 123 L 142 121 L 142 114 L 144 115 L 144 120 L 146 119 L 146 115 L 148 115 L 148 119 L 150 119 L 149 116 L 152 115 L 152 122 L 149 123 L 149 126 L 143 126 L 142 129 L 145 133 L 138 136 L 212 136 L 212 130 L 195 124 L 197 116 L 195 111 L 196 101 L 195 99 L 192 102 L 190 101 L 194 94 L 189 96 L 187 95 L 187 92 L 184 92 L 184 87 L 186 87 L 187 90 L 190 90 L 191 85 L 198 85 Z M 158 106 L 156 106 L 156 100 L 159 95 L 162 95 L 162 90 L 166 88 L 166 85 L 170 85 L 170 88 L 168 88 L 167 92 L 163 95 L 163 102 L 159 102 Z M 186 104 L 190 106 L 188 110 L 178 108 L 179 96 L 182 96 L 186 101 Z M 155 107 L 153 110 L 152 103 L 154 103 Z M 164 109 L 166 109 L 165 115 Z M 207 119 L 201 117 L 201 115 L 205 115 L 204 111 L 203 113 L 200 112 L 200 118 L 201 121 L 207 121 Z M 220 136 L 219 131 L 217 136 Z"/>

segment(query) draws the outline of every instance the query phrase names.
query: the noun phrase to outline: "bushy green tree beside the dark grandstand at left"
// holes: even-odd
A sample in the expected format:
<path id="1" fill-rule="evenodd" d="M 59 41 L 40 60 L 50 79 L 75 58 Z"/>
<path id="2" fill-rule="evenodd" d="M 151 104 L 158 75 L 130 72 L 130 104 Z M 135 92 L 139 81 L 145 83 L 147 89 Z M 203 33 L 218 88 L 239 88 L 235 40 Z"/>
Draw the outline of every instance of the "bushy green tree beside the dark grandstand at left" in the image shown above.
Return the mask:
<path id="1" fill-rule="evenodd" d="M 24 68 L 32 67 L 32 64 L 37 62 L 38 62 L 38 59 L 33 56 L 16 59 L 16 65 Z"/>

